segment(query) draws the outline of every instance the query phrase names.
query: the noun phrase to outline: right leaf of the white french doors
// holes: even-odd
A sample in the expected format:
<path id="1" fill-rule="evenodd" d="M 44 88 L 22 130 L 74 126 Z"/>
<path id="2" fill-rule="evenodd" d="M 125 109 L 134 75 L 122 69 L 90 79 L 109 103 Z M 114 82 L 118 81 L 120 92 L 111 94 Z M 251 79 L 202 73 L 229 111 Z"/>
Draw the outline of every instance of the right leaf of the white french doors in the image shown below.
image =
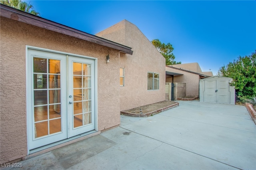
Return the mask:
<path id="1" fill-rule="evenodd" d="M 70 136 L 94 130 L 94 60 L 68 57 Z"/>

